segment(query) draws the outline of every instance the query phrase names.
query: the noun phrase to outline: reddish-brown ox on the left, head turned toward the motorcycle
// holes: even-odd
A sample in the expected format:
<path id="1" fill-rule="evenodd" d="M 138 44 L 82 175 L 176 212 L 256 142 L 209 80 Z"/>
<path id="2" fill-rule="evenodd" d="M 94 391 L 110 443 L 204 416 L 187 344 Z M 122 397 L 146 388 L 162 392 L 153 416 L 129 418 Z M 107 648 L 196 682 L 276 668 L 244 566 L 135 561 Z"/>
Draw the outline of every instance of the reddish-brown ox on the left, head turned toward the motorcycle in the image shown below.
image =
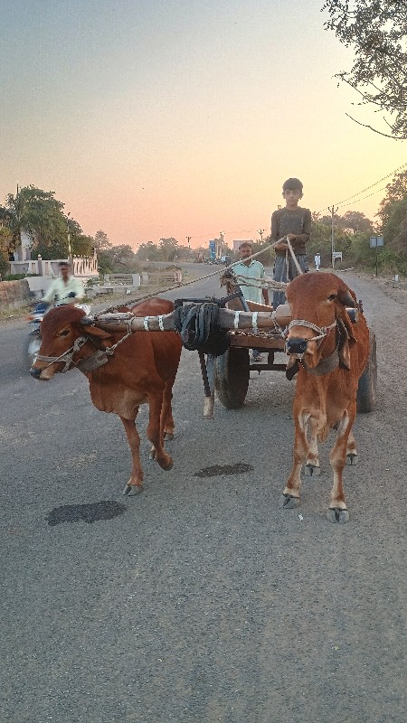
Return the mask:
<path id="1" fill-rule="evenodd" d="M 133 306 L 131 311 L 137 316 L 147 316 L 169 314 L 173 309 L 172 302 L 154 298 Z M 172 438 L 174 434 L 171 399 L 181 355 L 180 337 L 175 332 L 132 333 L 118 344 L 107 363 L 89 371 L 94 366 L 90 358 L 97 359 L 99 350 L 118 343 L 124 333 L 108 333 L 96 326 L 84 325 L 84 321 L 85 313 L 73 306 L 60 306 L 44 316 L 43 341 L 32 374 L 36 379 L 50 380 L 58 371 L 82 367 L 95 407 L 118 414 L 123 422 L 133 461 L 123 493 L 135 494 L 143 486 L 140 438 L 135 424 L 140 404 L 149 405 L 147 437 L 153 445 L 151 456 L 165 470 L 173 466 L 164 448 L 164 437 Z M 101 356 L 104 357 L 103 352 Z"/>

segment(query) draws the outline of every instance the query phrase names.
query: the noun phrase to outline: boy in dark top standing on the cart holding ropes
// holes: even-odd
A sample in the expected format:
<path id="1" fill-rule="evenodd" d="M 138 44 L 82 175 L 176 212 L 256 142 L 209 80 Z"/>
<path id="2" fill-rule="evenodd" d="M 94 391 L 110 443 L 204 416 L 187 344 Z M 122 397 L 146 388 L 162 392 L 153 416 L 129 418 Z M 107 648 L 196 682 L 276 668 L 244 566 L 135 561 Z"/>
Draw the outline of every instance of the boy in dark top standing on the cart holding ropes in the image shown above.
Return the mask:
<path id="1" fill-rule="evenodd" d="M 271 243 L 275 243 L 283 237 L 288 237 L 291 247 L 297 258 L 299 268 L 308 271 L 306 244 L 311 233 L 311 211 L 298 206 L 302 198 L 302 183 L 298 178 L 289 178 L 283 183 L 283 199 L 286 202 L 284 208 L 274 211 L 271 216 Z M 284 240 L 274 247 L 276 260 L 274 265 L 274 280 L 292 281 L 298 276 L 298 270 L 291 257 L 289 245 Z M 286 295 L 283 291 L 275 291 L 273 294 L 273 306 L 275 309 L 279 304 L 284 304 Z"/>

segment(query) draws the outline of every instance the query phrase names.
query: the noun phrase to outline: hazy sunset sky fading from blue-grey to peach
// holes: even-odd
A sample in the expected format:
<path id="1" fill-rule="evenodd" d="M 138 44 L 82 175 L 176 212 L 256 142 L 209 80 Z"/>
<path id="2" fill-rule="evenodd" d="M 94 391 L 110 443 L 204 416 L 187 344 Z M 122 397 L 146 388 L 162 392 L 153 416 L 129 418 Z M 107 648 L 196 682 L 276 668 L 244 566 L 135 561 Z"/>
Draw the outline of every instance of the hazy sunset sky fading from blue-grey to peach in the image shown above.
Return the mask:
<path id="1" fill-rule="evenodd" d="M 311 211 L 374 220 L 407 146 L 346 117 L 386 132 L 337 87 L 352 52 L 322 5 L 3 0 L 0 204 L 33 184 L 86 234 L 194 248 L 267 235 L 298 176 Z"/>

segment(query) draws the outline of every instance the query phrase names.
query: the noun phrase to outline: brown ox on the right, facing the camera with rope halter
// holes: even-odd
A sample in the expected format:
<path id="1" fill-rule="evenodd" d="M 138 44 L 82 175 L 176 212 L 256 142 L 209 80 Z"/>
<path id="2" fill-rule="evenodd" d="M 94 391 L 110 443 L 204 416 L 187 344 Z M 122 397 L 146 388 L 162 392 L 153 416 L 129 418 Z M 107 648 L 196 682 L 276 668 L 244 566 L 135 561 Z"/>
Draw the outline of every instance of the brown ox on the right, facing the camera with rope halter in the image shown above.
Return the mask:
<path id="1" fill-rule="evenodd" d="M 298 378 L 293 406 L 294 463 L 281 506 L 287 509 L 299 504 L 301 465 L 305 463 L 306 474 L 319 474 L 317 440 L 325 441 L 329 429 L 336 429 L 329 457 L 334 485 L 327 518 L 347 522 L 342 473 L 346 462 L 357 462 L 352 425 L 358 380 L 369 356 L 369 329 L 361 312 L 352 324 L 346 306 L 357 307 L 355 294 L 335 274 L 296 277 L 286 296 L 292 320 L 287 337 L 288 370 L 295 373 L 298 367 Z"/>

